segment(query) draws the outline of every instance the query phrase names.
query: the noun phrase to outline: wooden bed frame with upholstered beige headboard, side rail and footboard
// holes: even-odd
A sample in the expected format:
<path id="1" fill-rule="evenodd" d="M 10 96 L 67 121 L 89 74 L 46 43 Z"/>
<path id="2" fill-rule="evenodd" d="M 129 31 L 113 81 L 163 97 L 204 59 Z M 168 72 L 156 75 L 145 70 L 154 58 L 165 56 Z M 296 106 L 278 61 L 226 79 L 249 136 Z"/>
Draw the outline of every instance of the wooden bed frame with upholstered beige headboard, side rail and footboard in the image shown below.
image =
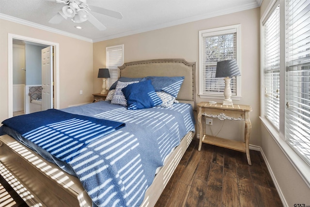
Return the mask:
<path id="1" fill-rule="evenodd" d="M 186 77 L 178 100 L 196 105 L 196 63 L 183 59 L 160 59 L 126 63 L 120 77 Z M 153 207 L 195 133 L 188 132 L 155 175 L 146 191 L 142 207 Z M 77 177 L 69 175 L 8 135 L 0 136 L 0 174 L 31 207 L 91 207 L 92 201 Z"/>

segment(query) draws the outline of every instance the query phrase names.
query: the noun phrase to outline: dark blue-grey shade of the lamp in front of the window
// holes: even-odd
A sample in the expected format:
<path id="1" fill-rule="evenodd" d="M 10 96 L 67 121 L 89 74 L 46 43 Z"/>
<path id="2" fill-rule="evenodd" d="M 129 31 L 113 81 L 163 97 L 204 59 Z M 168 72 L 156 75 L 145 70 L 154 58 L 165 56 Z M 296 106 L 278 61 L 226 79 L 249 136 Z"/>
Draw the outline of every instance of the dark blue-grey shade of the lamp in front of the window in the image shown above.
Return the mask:
<path id="1" fill-rule="evenodd" d="M 241 76 L 236 60 L 217 62 L 216 78 Z"/>

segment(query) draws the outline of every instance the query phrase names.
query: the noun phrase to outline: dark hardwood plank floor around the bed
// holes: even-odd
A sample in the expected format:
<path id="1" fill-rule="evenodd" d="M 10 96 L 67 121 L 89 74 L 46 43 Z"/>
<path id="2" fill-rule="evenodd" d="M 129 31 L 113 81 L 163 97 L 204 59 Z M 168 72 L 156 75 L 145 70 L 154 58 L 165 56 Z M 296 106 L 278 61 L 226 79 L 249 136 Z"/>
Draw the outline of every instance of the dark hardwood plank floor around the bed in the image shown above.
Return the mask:
<path id="1" fill-rule="evenodd" d="M 249 166 L 245 153 L 205 143 L 199 152 L 198 143 L 192 141 L 155 207 L 283 206 L 260 152 L 250 150 Z M 27 207 L 1 176 L 0 184 L 0 207 Z"/>

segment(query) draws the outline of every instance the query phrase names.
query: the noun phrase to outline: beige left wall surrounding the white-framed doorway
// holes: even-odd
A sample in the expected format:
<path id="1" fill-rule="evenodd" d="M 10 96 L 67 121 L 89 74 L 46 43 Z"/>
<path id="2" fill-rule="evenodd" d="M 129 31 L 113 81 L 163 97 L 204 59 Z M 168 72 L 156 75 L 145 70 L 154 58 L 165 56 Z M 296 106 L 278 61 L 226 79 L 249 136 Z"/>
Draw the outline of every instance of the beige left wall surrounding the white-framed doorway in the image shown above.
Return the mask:
<path id="1" fill-rule="evenodd" d="M 0 121 L 8 118 L 8 33 L 59 44 L 60 108 L 92 101 L 93 43 L 0 19 Z"/>

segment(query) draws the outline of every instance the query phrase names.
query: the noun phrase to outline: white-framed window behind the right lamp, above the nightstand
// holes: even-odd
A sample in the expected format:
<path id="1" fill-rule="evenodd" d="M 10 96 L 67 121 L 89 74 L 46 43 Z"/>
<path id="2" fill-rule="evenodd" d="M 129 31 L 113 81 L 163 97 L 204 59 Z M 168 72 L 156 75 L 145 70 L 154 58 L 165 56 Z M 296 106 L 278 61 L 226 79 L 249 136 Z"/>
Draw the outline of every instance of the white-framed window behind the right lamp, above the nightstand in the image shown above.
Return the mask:
<path id="1" fill-rule="evenodd" d="M 222 98 L 225 83 L 223 78 L 215 78 L 217 62 L 236 59 L 237 63 L 239 63 L 239 33 L 240 25 L 199 32 L 200 97 Z M 232 99 L 240 99 L 240 88 L 239 77 L 233 77 L 231 80 Z"/>

